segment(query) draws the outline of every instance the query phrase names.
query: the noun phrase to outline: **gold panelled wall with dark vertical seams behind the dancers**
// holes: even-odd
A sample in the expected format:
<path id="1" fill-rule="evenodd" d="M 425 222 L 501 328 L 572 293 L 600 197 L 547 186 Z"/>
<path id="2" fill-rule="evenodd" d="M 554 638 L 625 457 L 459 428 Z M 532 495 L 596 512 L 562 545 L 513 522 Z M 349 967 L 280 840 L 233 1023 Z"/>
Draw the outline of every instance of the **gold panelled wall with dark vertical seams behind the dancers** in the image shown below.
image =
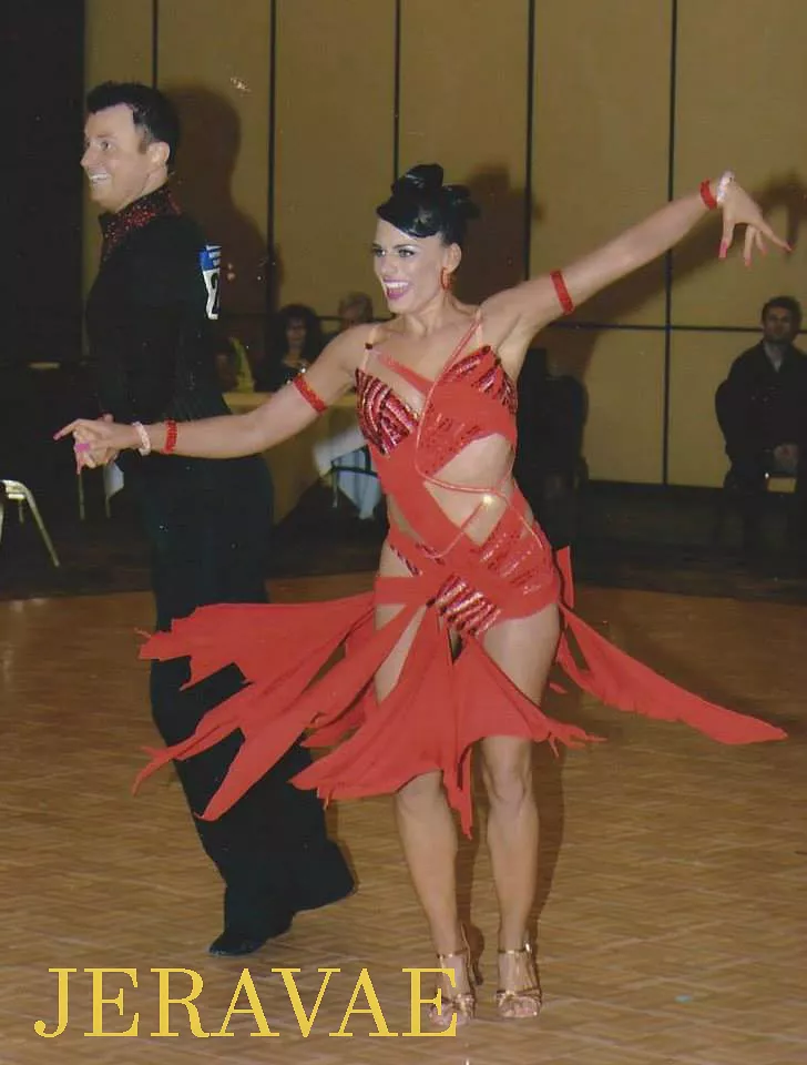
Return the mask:
<path id="1" fill-rule="evenodd" d="M 183 202 L 225 246 L 224 307 L 259 343 L 268 305 L 372 293 L 374 206 L 437 160 L 483 209 L 478 300 L 571 258 L 731 166 L 796 227 L 807 181 L 800 0 L 86 0 L 86 82 L 176 100 Z M 85 276 L 98 258 L 88 206 Z M 717 220 L 537 343 L 589 393 L 600 479 L 719 485 L 713 396 L 764 301 L 807 296 L 801 248 L 716 258 Z M 570 327 L 578 325 L 578 328 Z"/>

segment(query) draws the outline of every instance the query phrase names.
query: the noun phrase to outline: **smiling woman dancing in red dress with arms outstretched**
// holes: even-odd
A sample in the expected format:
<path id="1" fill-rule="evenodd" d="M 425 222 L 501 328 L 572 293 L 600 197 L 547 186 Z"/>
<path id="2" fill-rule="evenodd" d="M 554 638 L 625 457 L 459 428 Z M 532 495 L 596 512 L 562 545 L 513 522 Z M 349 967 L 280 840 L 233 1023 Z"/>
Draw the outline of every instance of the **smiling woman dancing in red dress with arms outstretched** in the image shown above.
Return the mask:
<path id="1" fill-rule="evenodd" d="M 249 414 L 183 423 L 178 432 L 173 422 L 78 420 L 58 434 L 74 435 L 86 465 L 115 448 L 228 458 L 286 439 L 356 385 L 389 503 L 374 591 L 318 605 L 205 607 L 153 637 L 144 657 L 190 655 L 194 682 L 236 661 L 253 683 L 208 713 L 187 742 L 155 755 L 149 771 L 241 729 L 242 751 L 205 813 L 216 818 L 304 730 L 311 746 L 344 740 L 295 782 L 326 798 L 395 793 L 406 859 L 446 971 L 439 990 L 447 1008 L 438 997 L 431 1011 L 438 1026 L 470 1020 L 476 1008 L 451 808 L 469 831 L 477 743 L 500 904 L 496 1002 L 503 1017 L 534 1016 L 540 1007 L 527 931 L 538 860 L 531 742 L 589 739 L 539 708 L 555 659 L 622 710 L 686 721 L 728 743 L 784 736 L 676 688 L 578 618 L 565 555 L 553 559 L 511 476 L 514 382 L 530 339 L 666 252 L 718 206 L 721 257 L 739 224 L 747 226 L 746 262 L 754 248 L 765 251 L 766 239 L 786 246 L 727 173 L 563 273 L 471 307 L 454 298 L 451 278 L 476 210 L 464 189 L 442 184 L 440 166 L 416 166 L 377 211 L 372 254 L 390 322 L 341 334 L 305 376 Z M 340 646 L 344 658 L 318 676 Z"/>

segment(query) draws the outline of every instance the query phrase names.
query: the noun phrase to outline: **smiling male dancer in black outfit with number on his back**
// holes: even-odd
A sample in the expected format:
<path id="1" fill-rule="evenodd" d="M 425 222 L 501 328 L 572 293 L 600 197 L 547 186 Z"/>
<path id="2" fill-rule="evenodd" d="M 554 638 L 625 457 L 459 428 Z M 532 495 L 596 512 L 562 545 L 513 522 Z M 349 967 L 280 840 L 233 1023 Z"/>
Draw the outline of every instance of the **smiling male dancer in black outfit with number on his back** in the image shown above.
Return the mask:
<path id="1" fill-rule="evenodd" d="M 136 83 L 99 85 L 88 112 L 81 165 L 103 211 L 101 267 L 86 307 L 101 410 L 144 423 L 226 414 L 215 373 L 219 250 L 205 243 L 167 187 L 176 113 L 162 93 Z M 119 465 L 152 550 L 157 628 L 207 604 L 265 602 L 272 484 L 264 462 L 145 452 L 122 455 Z M 168 744 L 244 683 L 234 666 L 182 691 L 187 678 L 183 660 L 152 666 L 154 721 Z M 193 813 L 204 810 L 241 743 L 233 734 L 176 764 Z M 295 744 L 226 816 L 194 819 L 225 883 L 224 930 L 212 954 L 252 953 L 285 932 L 297 911 L 353 890 L 319 800 L 286 782 L 309 761 Z"/>

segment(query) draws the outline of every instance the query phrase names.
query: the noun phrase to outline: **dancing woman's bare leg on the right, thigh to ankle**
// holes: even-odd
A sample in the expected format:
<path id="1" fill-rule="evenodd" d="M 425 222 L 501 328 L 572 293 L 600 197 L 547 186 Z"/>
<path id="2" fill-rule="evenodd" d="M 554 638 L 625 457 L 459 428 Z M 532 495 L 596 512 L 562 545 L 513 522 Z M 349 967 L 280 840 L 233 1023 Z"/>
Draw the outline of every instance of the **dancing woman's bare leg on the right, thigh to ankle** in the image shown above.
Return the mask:
<path id="1" fill-rule="evenodd" d="M 539 702 L 552 667 L 560 633 L 558 610 L 548 607 L 531 618 L 504 621 L 487 633 L 484 649 L 510 680 Z M 482 775 L 488 791 L 488 846 L 499 897 L 500 952 L 521 951 L 538 876 L 538 810 L 532 788 L 532 742 L 515 737 L 482 741 Z M 500 954 L 499 986 L 520 990 L 533 983 L 529 956 Z M 513 1016 L 535 1012 L 513 1005 Z"/>

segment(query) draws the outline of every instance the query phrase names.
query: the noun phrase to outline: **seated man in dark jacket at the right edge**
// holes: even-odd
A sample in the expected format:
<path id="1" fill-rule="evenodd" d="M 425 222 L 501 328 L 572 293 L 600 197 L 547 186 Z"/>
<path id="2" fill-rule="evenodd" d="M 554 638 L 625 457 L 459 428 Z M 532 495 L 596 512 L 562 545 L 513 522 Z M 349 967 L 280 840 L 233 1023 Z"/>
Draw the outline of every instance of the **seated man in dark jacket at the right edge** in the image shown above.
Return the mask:
<path id="1" fill-rule="evenodd" d="M 759 343 L 734 361 L 715 394 L 717 422 L 732 464 L 725 487 L 739 503 L 748 550 L 760 547 L 768 476 L 796 478 L 799 532 L 805 529 L 807 497 L 807 356 L 794 346 L 801 327 L 799 303 L 791 296 L 768 300 L 762 325 Z"/>

